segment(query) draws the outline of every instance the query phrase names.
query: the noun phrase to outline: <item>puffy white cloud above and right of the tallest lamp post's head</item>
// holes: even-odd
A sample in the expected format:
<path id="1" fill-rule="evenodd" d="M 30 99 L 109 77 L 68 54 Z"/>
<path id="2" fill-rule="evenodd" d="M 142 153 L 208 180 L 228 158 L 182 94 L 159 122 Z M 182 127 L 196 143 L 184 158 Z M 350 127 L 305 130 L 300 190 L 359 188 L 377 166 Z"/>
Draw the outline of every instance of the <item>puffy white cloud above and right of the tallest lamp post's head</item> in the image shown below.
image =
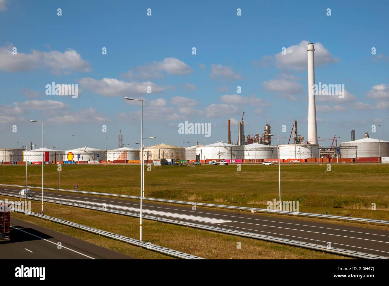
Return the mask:
<path id="1" fill-rule="evenodd" d="M 146 65 L 131 68 L 123 77 L 131 80 L 142 79 L 151 80 L 163 78 L 163 72 L 170 75 L 186 75 L 191 74 L 193 70 L 183 61 L 176 58 L 165 58 L 162 61 L 154 61 Z"/>

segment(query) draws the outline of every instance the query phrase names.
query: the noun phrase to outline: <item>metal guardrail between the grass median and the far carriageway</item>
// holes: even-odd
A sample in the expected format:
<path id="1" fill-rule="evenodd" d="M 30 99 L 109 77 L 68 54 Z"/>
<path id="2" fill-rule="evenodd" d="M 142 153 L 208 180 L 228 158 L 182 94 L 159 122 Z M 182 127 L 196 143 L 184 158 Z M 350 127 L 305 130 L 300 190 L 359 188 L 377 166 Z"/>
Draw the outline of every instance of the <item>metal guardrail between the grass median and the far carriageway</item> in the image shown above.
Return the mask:
<path id="1" fill-rule="evenodd" d="M 6 195 L 9 195 L 9 194 L 6 194 Z M 20 197 L 20 196 L 11 194 L 11 197 Z M 31 199 L 40 200 L 39 198 L 31 198 Z M 81 207 L 84 209 L 91 209 L 91 210 L 95 210 L 95 211 L 103 211 L 103 212 L 109 212 L 109 213 L 113 213 L 113 214 L 121 214 L 124 216 L 131 216 L 131 217 L 135 217 L 135 218 L 140 217 L 140 214 L 133 213 L 133 212 L 119 211 L 119 210 L 114 210 L 114 209 L 106 209 L 106 208 L 102 208 L 102 207 L 94 207 L 91 205 L 83 205 L 83 204 L 76 204 L 76 203 L 70 203 L 70 202 L 61 202 L 61 201 L 56 201 L 56 200 L 44 199 L 44 201 L 51 202 L 54 204 L 62 204 L 62 205 Z M 354 258 L 389 259 L 389 257 L 386 257 L 386 256 L 363 253 L 363 252 L 359 252 L 359 251 L 353 251 L 353 250 L 342 249 L 342 248 L 337 248 L 337 247 L 329 247 L 328 248 L 327 246 L 320 245 L 320 244 L 308 243 L 308 242 L 291 240 L 291 239 L 284 239 L 284 238 L 280 238 L 280 237 L 273 237 L 273 236 L 263 235 L 263 234 L 259 234 L 259 233 L 243 232 L 240 230 L 232 230 L 232 229 L 220 228 L 220 227 L 216 227 L 216 226 L 201 225 L 198 223 L 190 223 L 190 222 L 186 222 L 186 221 L 179 221 L 176 219 L 160 218 L 158 216 L 149 216 L 149 215 L 145 215 L 145 214 L 142 217 L 145 219 L 150 219 L 150 220 L 159 221 L 159 222 L 163 222 L 163 223 L 170 223 L 170 224 L 174 224 L 174 225 L 188 226 L 191 228 L 209 230 L 209 231 L 213 231 L 213 232 L 227 233 L 227 234 L 231 234 L 231 235 L 238 235 L 238 236 L 249 237 L 249 238 L 253 238 L 253 239 L 266 240 L 266 241 L 270 241 L 270 242 L 276 242 L 276 243 L 286 244 L 286 245 L 290 245 L 290 246 L 303 247 L 303 248 L 317 250 L 317 251 L 323 251 L 323 252 L 327 252 L 327 253 L 334 253 L 334 254 L 340 254 L 340 255 L 344 255 L 344 256 L 351 256 Z"/>

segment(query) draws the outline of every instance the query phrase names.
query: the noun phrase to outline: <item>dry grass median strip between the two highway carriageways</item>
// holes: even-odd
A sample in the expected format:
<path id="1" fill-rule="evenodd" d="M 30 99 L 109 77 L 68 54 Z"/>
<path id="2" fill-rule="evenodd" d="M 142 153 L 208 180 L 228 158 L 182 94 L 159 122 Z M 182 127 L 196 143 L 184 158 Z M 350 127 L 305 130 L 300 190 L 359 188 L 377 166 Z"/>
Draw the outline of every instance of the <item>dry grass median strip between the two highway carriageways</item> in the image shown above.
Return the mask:
<path id="1" fill-rule="evenodd" d="M 3 200 L 15 200 L 1 197 Z M 32 201 L 32 211 L 39 212 L 40 202 Z M 139 219 L 118 214 L 109 214 L 77 207 L 45 203 L 45 214 L 83 225 L 92 226 L 109 232 L 139 238 Z M 147 249 L 131 246 L 124 242 L 101 237 L 68 226 L 59 225 L 25 214 L 11 212 L 11 216 L 30 223 L 44 226 L 55 231 L 77 237 L 93 244 L 107 247 L 120 253 L 140 259 L 170 259 L 170 256 Z M 272 242 L 249 239 L 223 233 L 196 230 L 184 226 L 143 221 L 144 241 L 164 247 L 194 254 L 207 259 L 350 259 L 335 254 L 322 253 L 308 249 L 286 246 Z M 240 242 L 241 249 L 237 248 Z"/>

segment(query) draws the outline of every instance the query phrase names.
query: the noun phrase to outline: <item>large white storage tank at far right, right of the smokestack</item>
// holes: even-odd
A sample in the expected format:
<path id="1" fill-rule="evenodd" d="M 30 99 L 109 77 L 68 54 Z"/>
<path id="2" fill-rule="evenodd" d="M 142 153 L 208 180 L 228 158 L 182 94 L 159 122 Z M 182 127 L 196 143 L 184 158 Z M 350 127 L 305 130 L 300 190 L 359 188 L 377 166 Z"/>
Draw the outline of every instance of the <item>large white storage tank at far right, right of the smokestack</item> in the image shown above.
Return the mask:
<path id="1" fill-rule="evenodd" d="M 341 158 L 372 158 L 378 157 L 381 153 L 381 157 L 389 157 L 389 141 L 362 138 L 348 142 L 341 142 L 340 146 L 357 146 L 357 152 L 355 149 L 340 149 Z"/>

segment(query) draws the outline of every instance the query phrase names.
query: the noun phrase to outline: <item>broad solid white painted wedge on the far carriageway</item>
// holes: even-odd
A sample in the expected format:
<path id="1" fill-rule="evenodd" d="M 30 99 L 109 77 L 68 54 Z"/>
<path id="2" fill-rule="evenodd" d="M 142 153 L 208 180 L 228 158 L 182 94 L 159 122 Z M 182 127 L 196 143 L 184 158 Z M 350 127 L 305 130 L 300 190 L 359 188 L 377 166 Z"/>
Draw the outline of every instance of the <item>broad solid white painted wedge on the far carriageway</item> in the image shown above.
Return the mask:
<path id="1" fill-rule="evenodd" d="M 52 198 L 52 197 L 45 197 L 45 198 Z M 106 207 L 114 207 L 115 209 L 124 209 L 124 210 L 128 210 L 128 211 L 140 212 L 140 209 L 135 208 L 135 207 L 124 207 L 121 205 L 100 204 L 100 203 L 88 202 L 88 201 L 83 201 L 83 200 L 70 200 L 70 199 L 66 199 L 66 198 L 62 198 L 61 200 L 70 201 L 70 202 L 77 202 L 77 203 L 84 203 L 84 204 L 91 204 L 91 205 L 98 205 L 98 206 L 104 205 Z M 172 212 L 153 211 L 150 209 L 143 209 L 143 212 L 145 212 L 147 214 L 156 214 L 159 216 L 168 216 L 171 218 L 188 219 L 188 220 L 192 220 L 192 221 L 202 221 L 205 223 L 230 223 L 231 222 L 231 221 L 226 221 L 223 219 L 204 218 L 202 216 L 190 216 L 187 214 L 174 214 Z"/>

